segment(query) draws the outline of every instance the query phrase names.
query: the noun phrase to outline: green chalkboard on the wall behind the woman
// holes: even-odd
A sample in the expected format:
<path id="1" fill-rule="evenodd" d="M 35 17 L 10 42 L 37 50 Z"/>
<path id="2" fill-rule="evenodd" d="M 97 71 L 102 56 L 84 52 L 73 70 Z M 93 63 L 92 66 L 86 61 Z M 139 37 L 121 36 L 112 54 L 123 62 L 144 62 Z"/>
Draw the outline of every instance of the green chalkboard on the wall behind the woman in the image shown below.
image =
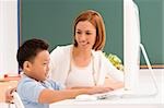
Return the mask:
<path id="1" fill-rule="evenodd" d="M 141 41 L 152 64 L 164 64 L 163 0 L 134 0 L 140 10 Z M 22 0 L 21 40 L 42 38 L 58 45 L 72 43 L 74 17 L 84 10 L 98 11 L 106 26 L 105 52 L 124 58 L 122 0 Z M 141 55 L 141 64 L 145 64 Z"/>

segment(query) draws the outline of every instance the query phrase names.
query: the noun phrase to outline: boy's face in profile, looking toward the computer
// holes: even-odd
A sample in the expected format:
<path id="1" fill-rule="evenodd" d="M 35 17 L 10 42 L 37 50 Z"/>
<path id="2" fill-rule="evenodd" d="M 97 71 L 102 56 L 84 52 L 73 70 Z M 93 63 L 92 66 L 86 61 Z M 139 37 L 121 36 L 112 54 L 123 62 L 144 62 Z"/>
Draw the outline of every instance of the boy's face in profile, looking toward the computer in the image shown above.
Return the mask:
<path id="1" fill-rule="evenodd" d="M 37 53 L 31 65 L 31 76 L 37 81 L 44 81 L 49 71 L 49 52 L 43 50 Z"/>

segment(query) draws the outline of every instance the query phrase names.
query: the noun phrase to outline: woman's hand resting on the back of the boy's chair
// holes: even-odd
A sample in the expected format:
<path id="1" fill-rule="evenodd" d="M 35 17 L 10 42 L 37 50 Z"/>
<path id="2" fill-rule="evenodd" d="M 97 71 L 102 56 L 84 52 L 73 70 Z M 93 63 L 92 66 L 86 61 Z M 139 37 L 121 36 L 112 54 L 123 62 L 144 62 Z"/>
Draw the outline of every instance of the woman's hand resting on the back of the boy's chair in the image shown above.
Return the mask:
<path id="1" fill-rule="evenodd" d="M 13 100 L 12 93 L 14 91 L 16 91 L 16 87 L 7 89 L 7 92 L 5 92 L 5 103 L 13 103 L 12 101 Z"/>

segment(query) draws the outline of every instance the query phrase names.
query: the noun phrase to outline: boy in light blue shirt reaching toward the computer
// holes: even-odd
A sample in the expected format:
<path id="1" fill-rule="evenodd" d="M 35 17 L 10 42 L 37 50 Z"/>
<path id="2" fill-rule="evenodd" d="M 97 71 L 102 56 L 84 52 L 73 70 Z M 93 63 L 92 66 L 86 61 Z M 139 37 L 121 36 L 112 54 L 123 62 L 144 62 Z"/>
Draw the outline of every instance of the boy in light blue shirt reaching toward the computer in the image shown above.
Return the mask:
<path id="1" fill-rule="evenodd" d="M 110 91 L 109 87 L 65 88 L 58 82 L 48 79 L 48 44 L 42 39 L 28 39 L 17 50 L 16 59 L 23 70 L 17 84 L 17 93 L 25 108 L 48 108 L 48 104 L 74 98 L 80 94 L 95 94 Z"/>

